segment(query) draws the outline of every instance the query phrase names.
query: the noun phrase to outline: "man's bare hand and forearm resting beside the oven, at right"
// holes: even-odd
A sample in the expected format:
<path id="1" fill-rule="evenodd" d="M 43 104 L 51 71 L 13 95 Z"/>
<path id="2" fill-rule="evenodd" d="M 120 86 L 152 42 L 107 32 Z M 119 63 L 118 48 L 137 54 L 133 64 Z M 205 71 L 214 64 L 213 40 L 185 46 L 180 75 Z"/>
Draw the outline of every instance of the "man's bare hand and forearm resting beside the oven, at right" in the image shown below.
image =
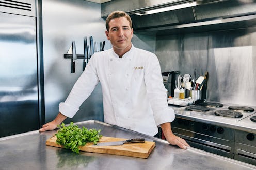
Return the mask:
<path id="1" fill-rule="evenodd" d="M 170 144 L 177 145 L 182 149 L 186 149 L 187 146 L 189 146 L 184 139 L 182 139 L 172 133 L 171 123 L 163 123 L 163 124 L 161 124 L 161 128 L 163 130 L 166 140 Z"/>

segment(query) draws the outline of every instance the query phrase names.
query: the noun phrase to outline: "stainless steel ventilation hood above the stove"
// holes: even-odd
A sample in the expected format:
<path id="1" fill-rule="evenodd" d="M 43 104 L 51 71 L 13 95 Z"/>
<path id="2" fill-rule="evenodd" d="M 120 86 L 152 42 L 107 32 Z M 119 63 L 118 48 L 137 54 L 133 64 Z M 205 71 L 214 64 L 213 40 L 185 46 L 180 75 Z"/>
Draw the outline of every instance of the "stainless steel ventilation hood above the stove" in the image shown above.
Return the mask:
<path id="1" fill-rule="evenodd" d="M 166 35 L 256 26 L 256 0 L 112 0 L 101 4 L 101 17 L 125 11 L 135 33 Z"/>

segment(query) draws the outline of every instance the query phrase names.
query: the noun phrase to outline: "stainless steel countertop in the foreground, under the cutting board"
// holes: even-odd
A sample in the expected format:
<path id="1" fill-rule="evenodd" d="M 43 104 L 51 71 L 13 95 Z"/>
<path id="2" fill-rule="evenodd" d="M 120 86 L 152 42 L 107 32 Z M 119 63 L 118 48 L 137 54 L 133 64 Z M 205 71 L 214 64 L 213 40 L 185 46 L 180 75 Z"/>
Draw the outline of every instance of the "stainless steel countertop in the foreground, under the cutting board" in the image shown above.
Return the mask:
<path id="1" fill-rule="evenodd" d="M 146 138 L 156 147 L 148 159 L 109 154 L 80 152 L 46 146 L 56 130 L 0 138 L 0 169 L 255 169 L 256 166 L 199 149 L 187 150 L 169 145 L 167 141 L 99 121 L 76 123 L 79 127 L 102 129 L 101 134 L 119 138 Z"/>

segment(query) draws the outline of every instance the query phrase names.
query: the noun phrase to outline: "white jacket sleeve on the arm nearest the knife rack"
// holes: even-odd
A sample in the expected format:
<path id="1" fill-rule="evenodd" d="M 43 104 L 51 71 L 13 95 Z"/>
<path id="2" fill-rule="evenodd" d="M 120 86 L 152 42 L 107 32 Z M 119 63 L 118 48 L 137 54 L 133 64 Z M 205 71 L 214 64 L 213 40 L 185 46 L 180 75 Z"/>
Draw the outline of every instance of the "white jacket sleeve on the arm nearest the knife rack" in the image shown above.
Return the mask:
<path id="1" fill-rule="evenodd" d="M 95 86 L 99 83 L 95 64 L 94 54 L 86 65 L 85 71 L 74 84 L 66 101 L 59 104 L 61 114 L 73 118 L 82 103 L 91 95 Z"/>

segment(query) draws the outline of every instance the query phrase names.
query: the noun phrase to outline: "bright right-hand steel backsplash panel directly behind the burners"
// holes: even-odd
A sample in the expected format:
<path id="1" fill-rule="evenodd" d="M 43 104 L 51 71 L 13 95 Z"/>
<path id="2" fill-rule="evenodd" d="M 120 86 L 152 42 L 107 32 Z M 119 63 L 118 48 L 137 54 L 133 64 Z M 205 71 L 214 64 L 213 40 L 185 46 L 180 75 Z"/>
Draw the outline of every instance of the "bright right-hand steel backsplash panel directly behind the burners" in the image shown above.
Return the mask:
<path id="1" fill-rule="evenodd" d="M 209 97 L 255 105 L 256 29 L 219 31 L 209 37 Z M 215 80 L 215 81 L 214 81 Z"/>

